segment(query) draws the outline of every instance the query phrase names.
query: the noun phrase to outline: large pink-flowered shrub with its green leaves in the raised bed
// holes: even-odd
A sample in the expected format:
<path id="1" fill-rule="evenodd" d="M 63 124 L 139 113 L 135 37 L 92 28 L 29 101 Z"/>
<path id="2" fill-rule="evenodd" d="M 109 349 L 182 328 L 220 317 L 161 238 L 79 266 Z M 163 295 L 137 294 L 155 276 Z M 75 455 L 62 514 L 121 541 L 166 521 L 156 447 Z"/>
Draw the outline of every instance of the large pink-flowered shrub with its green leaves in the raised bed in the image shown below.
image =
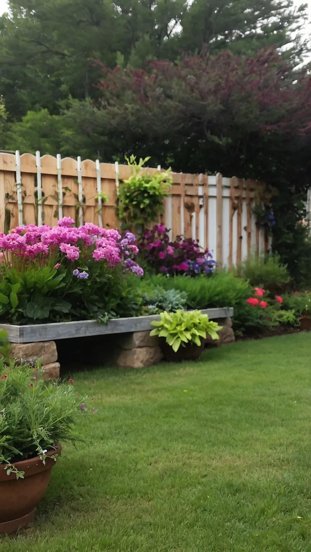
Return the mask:
<path id="1" fill-rule="evenodd" d="M 129 273 L 142 275 L 133 260 L 135 236 L 87 223 L 72 227 L 27 225 L 0 236 L 0 320 L 11 323 L 107 320 L 136 314 Z"/>

